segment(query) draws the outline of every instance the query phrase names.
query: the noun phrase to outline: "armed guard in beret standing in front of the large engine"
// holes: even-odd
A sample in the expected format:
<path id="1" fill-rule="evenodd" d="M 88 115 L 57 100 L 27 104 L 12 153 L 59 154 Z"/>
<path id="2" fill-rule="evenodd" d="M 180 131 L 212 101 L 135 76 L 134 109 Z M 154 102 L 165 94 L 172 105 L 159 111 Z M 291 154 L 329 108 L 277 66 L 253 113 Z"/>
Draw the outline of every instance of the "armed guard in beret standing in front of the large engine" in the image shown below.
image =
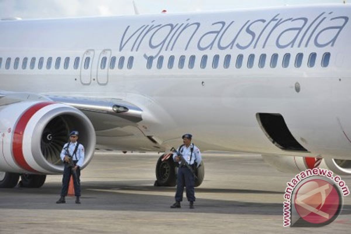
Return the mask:
<path id="1" fill-rule="evenodd" d="M 68 193 L 69 179 L 71 174 L 73 174 L 74 192 L 76 196 L 75 203 L 80 204 L 80 167 L 84 162 L 84 146 L 77 142 L 79 133 L 78 131 L 72 131 L 69 134 L 69 143 L 64 145 L 61 151 L 61 160 L 64 162 L 64 174 L 62 178 L 62 189 L 61 198 L 56 203 L 66 203 L 65 196 Z M 72 156 L 74 168 L 69 165 L 69 157 Z M 76 173 L 73 173 L 72 170 Z M 75 176 L 77 175 L 77 176 Z"/>

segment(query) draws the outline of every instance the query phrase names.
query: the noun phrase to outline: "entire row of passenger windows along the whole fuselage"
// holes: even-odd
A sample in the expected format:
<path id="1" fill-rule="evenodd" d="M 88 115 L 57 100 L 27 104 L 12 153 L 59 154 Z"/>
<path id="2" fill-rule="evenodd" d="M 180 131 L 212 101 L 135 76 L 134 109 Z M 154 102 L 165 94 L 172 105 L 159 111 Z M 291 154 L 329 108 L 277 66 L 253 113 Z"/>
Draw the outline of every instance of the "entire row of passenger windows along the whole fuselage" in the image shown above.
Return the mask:
<path id="1" fill-rule="evenodd" d="M 303 62 L 303 58 L 304 58 L 304 54 L 303 53 L 298 53 L 295 57 L 295 62 L 294 62 L 294 66 L 296 68 L 299 68 L 302 66 L 302 62 Z M 310 53 L 309 57 L 308 57 L 308 61 L 307 61 L 307 66 L 308 67 L 314 67 L 316 65 L 316 58 L 317 58 L 317 53 Z M 214 55 L 212 58 L 212 68 L 216 69 L 219 67 L 219 55 Z M 232 56 L 230 54 L 225 55 L 224 57 L 224 61 L 223 61 L 223 67 L 224 68 L 229 68 L 231 65 L 231 59 Z M 70 57 L 66 57 L 64 60 L 64 64 L 63 64 L 63 68 L 64 69 L 68 69 L 69 67 L 69 62 L 70 62 Z M 258 67 L 259 68 L 264 68 L 266 66 L 266 60 L 267 60 L 267 55 L 266 54 L 261 54 L 259 56 L 259 60 L 258 60 Z M 291 54 L 290 53 L 286 53 L 283 56 L 282 59 L 282 67 L 283 68 L 287 68 L 290 66 L 290 60 L 291 60 Z M 321 61 L 321 66 L 322 67 L 327 67 L 329 65 L 329 60 L 330 60 L 330 53 L 326 52 L 323 54 L 322 56 L 322 61 Z M 30 69 L 34 69 L 35 65 L 36 65 L 36 61 L 37 58 L 36 57 L 32 57 L 30 62 L 29 62 L 29 68 Z M 90 57 L 86 57 L 84 60 L 84 69 L 89 69 L 90 68 L 90 61 L 91 58 Z M 153 65 L 153 61 L 154 61 L 154 57 L 153 56 L 149 56 L 147 59 L 147 64 L 146 64 L 146 68 L 147 69 L 151 69 L 152 65 Z M 185 67 L 185 61 L 186 61 L 186 57 L 185 55 L 181 55 L 179 57 L 179 61 L 178 61 L 178 68 L 179 69 L 183 69 Z M 188 60 L 188 68 L 189 69 L 193 69 L 195 67 L 195 61 L 196 61 L 196 56 L 195 55 L 191 55 L 189 57 Z M 204 69 L 207 66 L 207 61 L 208 61 L 208 55 L 203 55 L 201 57 L 201 61 L 200 61 L 200 68 Z M 255 54 L 250 54 L 247 57 L 247 68 L 252 68 L 254 66 L 254 61 L 255 61 Z M 117 58 L 116 56 L 112 56 L 110 59 L 110 69 L 114 69 L 117 63 Z M 127 68 L 128 69 L 132 69 L 133 67 L 133 62 L 134 62 L 134 57 L 130 56 L 128 58 L 127 61 Z M 168 58 L 168 68 L 172 69 L 174 67 L 174 63 L 175 63 L 175 56 L 171 55 Z M 53 63 L 53 58 L 52 57 L 48 57 L 46 60 L 46 64 L 45 67 L 46 69 L 51 69 L 52 67 L 52 63 Z M 163 63 L 164 63 L 164 56 L 161 55 L 158 57 L 157 59 L 157 64 L 156 67 L 158 69 L 161 69 L 163 67 Z M 241 68 L 243 66 L 244 63 L 244 55 L 243 54 L 239 54 L 236 58 L 235 61 L 235 67 L 236 68 Z M 74 63 L 73 63 L 73 68 L 75 70 L 77 70 L 79 68 L 79 64 L 80 64 L 80 57 L 75 57 L 74 59 Z M 123 69 L 125 64 L 125 57 L 121 56 L 118 59 L 118 69 Z M 2 58 L 0 58 L 0 69 L 1 69 L 1 65 L 2 65 Z M 27 69 L 27 65 L 28 65 L 28 58 L 25 57 L 22 60 L 21 63 L 21 68 L 22 69 Z M 278 65 L 278 54 L 274 53 L 272 54 L 271 58 L 270 58 L 270 67 L 271 68 L 276 68 Z M 57 57 L 54 63 L 54 67 L 55 69 L 60 69 L 61 66 L 61 57 Z M 104 70 L 106 69 L 107 66 L 107 57 L 104 56 L 101 58 L 101 62 L 100 62 L 100 69 Z M 10 69 L 11 67 L 11 58 L 7 58 L 6 59 L 6 63 L 5 63 L 5 69 Z M 13 63 L 13 68 L 16 70 L 20 67 L 20 58 L 17 57 L 14 59 L 14 63 Z M 44 57 L 40 57 L 39 61 L 38 61 L 38 69 L 42 69 L 44 67 Z"/>

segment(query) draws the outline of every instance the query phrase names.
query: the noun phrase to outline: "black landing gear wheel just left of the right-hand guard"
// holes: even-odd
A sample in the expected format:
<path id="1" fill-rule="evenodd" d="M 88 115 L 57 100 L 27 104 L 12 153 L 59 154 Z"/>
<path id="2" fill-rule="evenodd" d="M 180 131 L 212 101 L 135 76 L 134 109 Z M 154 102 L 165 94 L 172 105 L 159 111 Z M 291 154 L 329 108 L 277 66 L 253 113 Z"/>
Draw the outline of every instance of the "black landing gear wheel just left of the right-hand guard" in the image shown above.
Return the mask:
<path id="1" fill-rule="evenodd" d="M 177 167 L 172 154 L 163 154 L 156 164 L 156 181 L 154 186 L 175 186 L 177 184 Z"/>

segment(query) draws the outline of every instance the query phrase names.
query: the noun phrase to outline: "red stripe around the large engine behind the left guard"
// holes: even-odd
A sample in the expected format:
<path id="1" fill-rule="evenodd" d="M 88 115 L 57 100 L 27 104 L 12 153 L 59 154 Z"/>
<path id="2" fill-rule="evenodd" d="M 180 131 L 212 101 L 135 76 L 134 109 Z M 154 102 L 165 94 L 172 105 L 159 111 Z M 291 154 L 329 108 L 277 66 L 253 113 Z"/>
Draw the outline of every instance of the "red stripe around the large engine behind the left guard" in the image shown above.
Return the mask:
<path id="1" fill-rule="evenodd" d="M 18 120 L 14 128 L 15 130 L 14 130 L 13 142 L 12 142 L 13 157 L 16 163 L 18 164 L 18 166 L 25 169 L 26 171 L 37 172 L 35 169 L 33 169 L 31 166 L 28 165 L 23 155 L 22 146 L 23 146 L 24 131 L 27 127 L 29 120 L 32 118 L 32 116 L 35 113 L 37 113 L 41 108 L 46 107 L 53 103 L 54 102 L 40 102 L 30 107 L 22 114 L 22 116 L 20 117 L 20 119 Z"/>

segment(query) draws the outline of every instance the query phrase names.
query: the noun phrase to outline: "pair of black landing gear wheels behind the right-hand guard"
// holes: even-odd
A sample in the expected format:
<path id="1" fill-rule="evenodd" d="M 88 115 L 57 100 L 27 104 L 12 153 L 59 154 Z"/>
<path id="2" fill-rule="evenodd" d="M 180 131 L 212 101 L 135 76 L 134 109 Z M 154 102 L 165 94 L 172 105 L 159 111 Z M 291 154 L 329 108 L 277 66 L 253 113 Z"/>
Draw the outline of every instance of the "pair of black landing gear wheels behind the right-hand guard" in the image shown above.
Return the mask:
<path id="1" fill-rule="evenodd" d="M 177 185 L 178 163 L 173 161 L 172 155 L 163 154 L 156 164 L 156 181 L 154 186 L 175 186 Z M 201 185 L 205 177 L 204 162 L 201 161 L 200 166 L 195 169 L 198 179 L 195 180 L 195 187 Z"/>

